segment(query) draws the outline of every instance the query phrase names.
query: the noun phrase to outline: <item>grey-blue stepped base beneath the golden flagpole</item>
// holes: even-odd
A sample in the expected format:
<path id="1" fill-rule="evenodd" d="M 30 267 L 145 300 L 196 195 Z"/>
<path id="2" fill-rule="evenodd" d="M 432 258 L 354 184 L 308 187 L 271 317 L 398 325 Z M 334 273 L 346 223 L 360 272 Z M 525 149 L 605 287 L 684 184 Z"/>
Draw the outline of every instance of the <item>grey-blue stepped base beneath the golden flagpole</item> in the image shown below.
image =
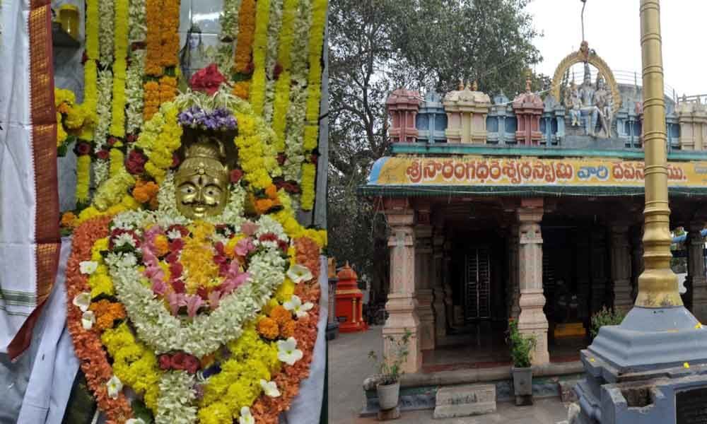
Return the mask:
<path id="1" fill-rule="evenodd" d="M 634 307 L 620 326 L 602 327 L 581 359 L 576 423 L 674 423 L 675 395 L 707 387 L 707 329 L 684 307 Z"/>

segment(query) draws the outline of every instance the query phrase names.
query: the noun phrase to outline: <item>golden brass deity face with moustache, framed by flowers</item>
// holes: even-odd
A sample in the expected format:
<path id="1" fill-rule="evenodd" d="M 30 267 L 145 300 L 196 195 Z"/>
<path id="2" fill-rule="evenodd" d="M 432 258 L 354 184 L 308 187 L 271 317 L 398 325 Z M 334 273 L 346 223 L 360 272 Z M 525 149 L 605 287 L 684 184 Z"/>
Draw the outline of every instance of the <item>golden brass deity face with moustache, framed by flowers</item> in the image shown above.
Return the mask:
<path id="1" fill-rule="evenodd" d="M 189 146 L 175 175 L 177 210 L 183 216 L 200 219 L 223 212 L 228 203 L 228 167 L 216 139 L 200 139 Z"/>

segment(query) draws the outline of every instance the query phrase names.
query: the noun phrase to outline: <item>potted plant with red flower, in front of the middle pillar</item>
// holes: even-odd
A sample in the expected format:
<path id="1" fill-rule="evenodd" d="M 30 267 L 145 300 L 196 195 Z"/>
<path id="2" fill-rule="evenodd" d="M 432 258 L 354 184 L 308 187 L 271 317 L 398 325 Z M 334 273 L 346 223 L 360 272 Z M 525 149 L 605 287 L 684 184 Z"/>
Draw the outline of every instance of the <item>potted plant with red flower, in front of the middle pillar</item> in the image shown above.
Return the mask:
<path id="1" fill-rule="evenodd" d="M 525 336 L 518 331 L 518 322 L 508 322 L 508 344 L 510 358 L 513 360 L 513 389 L 515 404 L 532 405 L 532 367 L 530 360 L 535 348 L 535 337 Z"/>

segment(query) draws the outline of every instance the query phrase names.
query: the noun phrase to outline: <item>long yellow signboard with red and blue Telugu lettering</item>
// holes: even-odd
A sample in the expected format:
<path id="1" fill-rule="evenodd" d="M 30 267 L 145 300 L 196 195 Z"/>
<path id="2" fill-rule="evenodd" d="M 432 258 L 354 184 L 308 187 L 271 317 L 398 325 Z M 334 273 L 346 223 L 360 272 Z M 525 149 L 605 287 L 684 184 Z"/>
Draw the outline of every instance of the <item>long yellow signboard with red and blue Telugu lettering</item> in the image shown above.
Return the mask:
<path id="1" fill-rule="evenodd" d="M 644 163 L 612 158 L 381 158 L 368 185 L 643 187 Z M 667 165 L 671 187 L 707 187 L 707 162 Z"/>

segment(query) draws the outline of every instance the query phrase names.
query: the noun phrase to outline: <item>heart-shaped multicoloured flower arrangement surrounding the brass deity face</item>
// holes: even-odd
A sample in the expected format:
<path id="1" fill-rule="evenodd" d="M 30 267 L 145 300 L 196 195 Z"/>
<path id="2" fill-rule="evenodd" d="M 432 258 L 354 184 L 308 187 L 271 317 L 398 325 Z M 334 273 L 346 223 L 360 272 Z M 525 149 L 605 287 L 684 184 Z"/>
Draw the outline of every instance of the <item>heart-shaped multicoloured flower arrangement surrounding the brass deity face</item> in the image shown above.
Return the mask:
<path id="1" fill-rule="evenodd" d="M 189 125 L 180 113 L 197 106 L 237 123 L 238 161 L 223 213 L 189 220 L 170 168 Z M 180 95 L 127 147 L 141 166 L 108 179 L 79 217 L 69 331 L 107 422 L 276 423 L 308 375 L 326 235 L 301 227 L 272 184 L 271 137 L 224 91 Z"/>

